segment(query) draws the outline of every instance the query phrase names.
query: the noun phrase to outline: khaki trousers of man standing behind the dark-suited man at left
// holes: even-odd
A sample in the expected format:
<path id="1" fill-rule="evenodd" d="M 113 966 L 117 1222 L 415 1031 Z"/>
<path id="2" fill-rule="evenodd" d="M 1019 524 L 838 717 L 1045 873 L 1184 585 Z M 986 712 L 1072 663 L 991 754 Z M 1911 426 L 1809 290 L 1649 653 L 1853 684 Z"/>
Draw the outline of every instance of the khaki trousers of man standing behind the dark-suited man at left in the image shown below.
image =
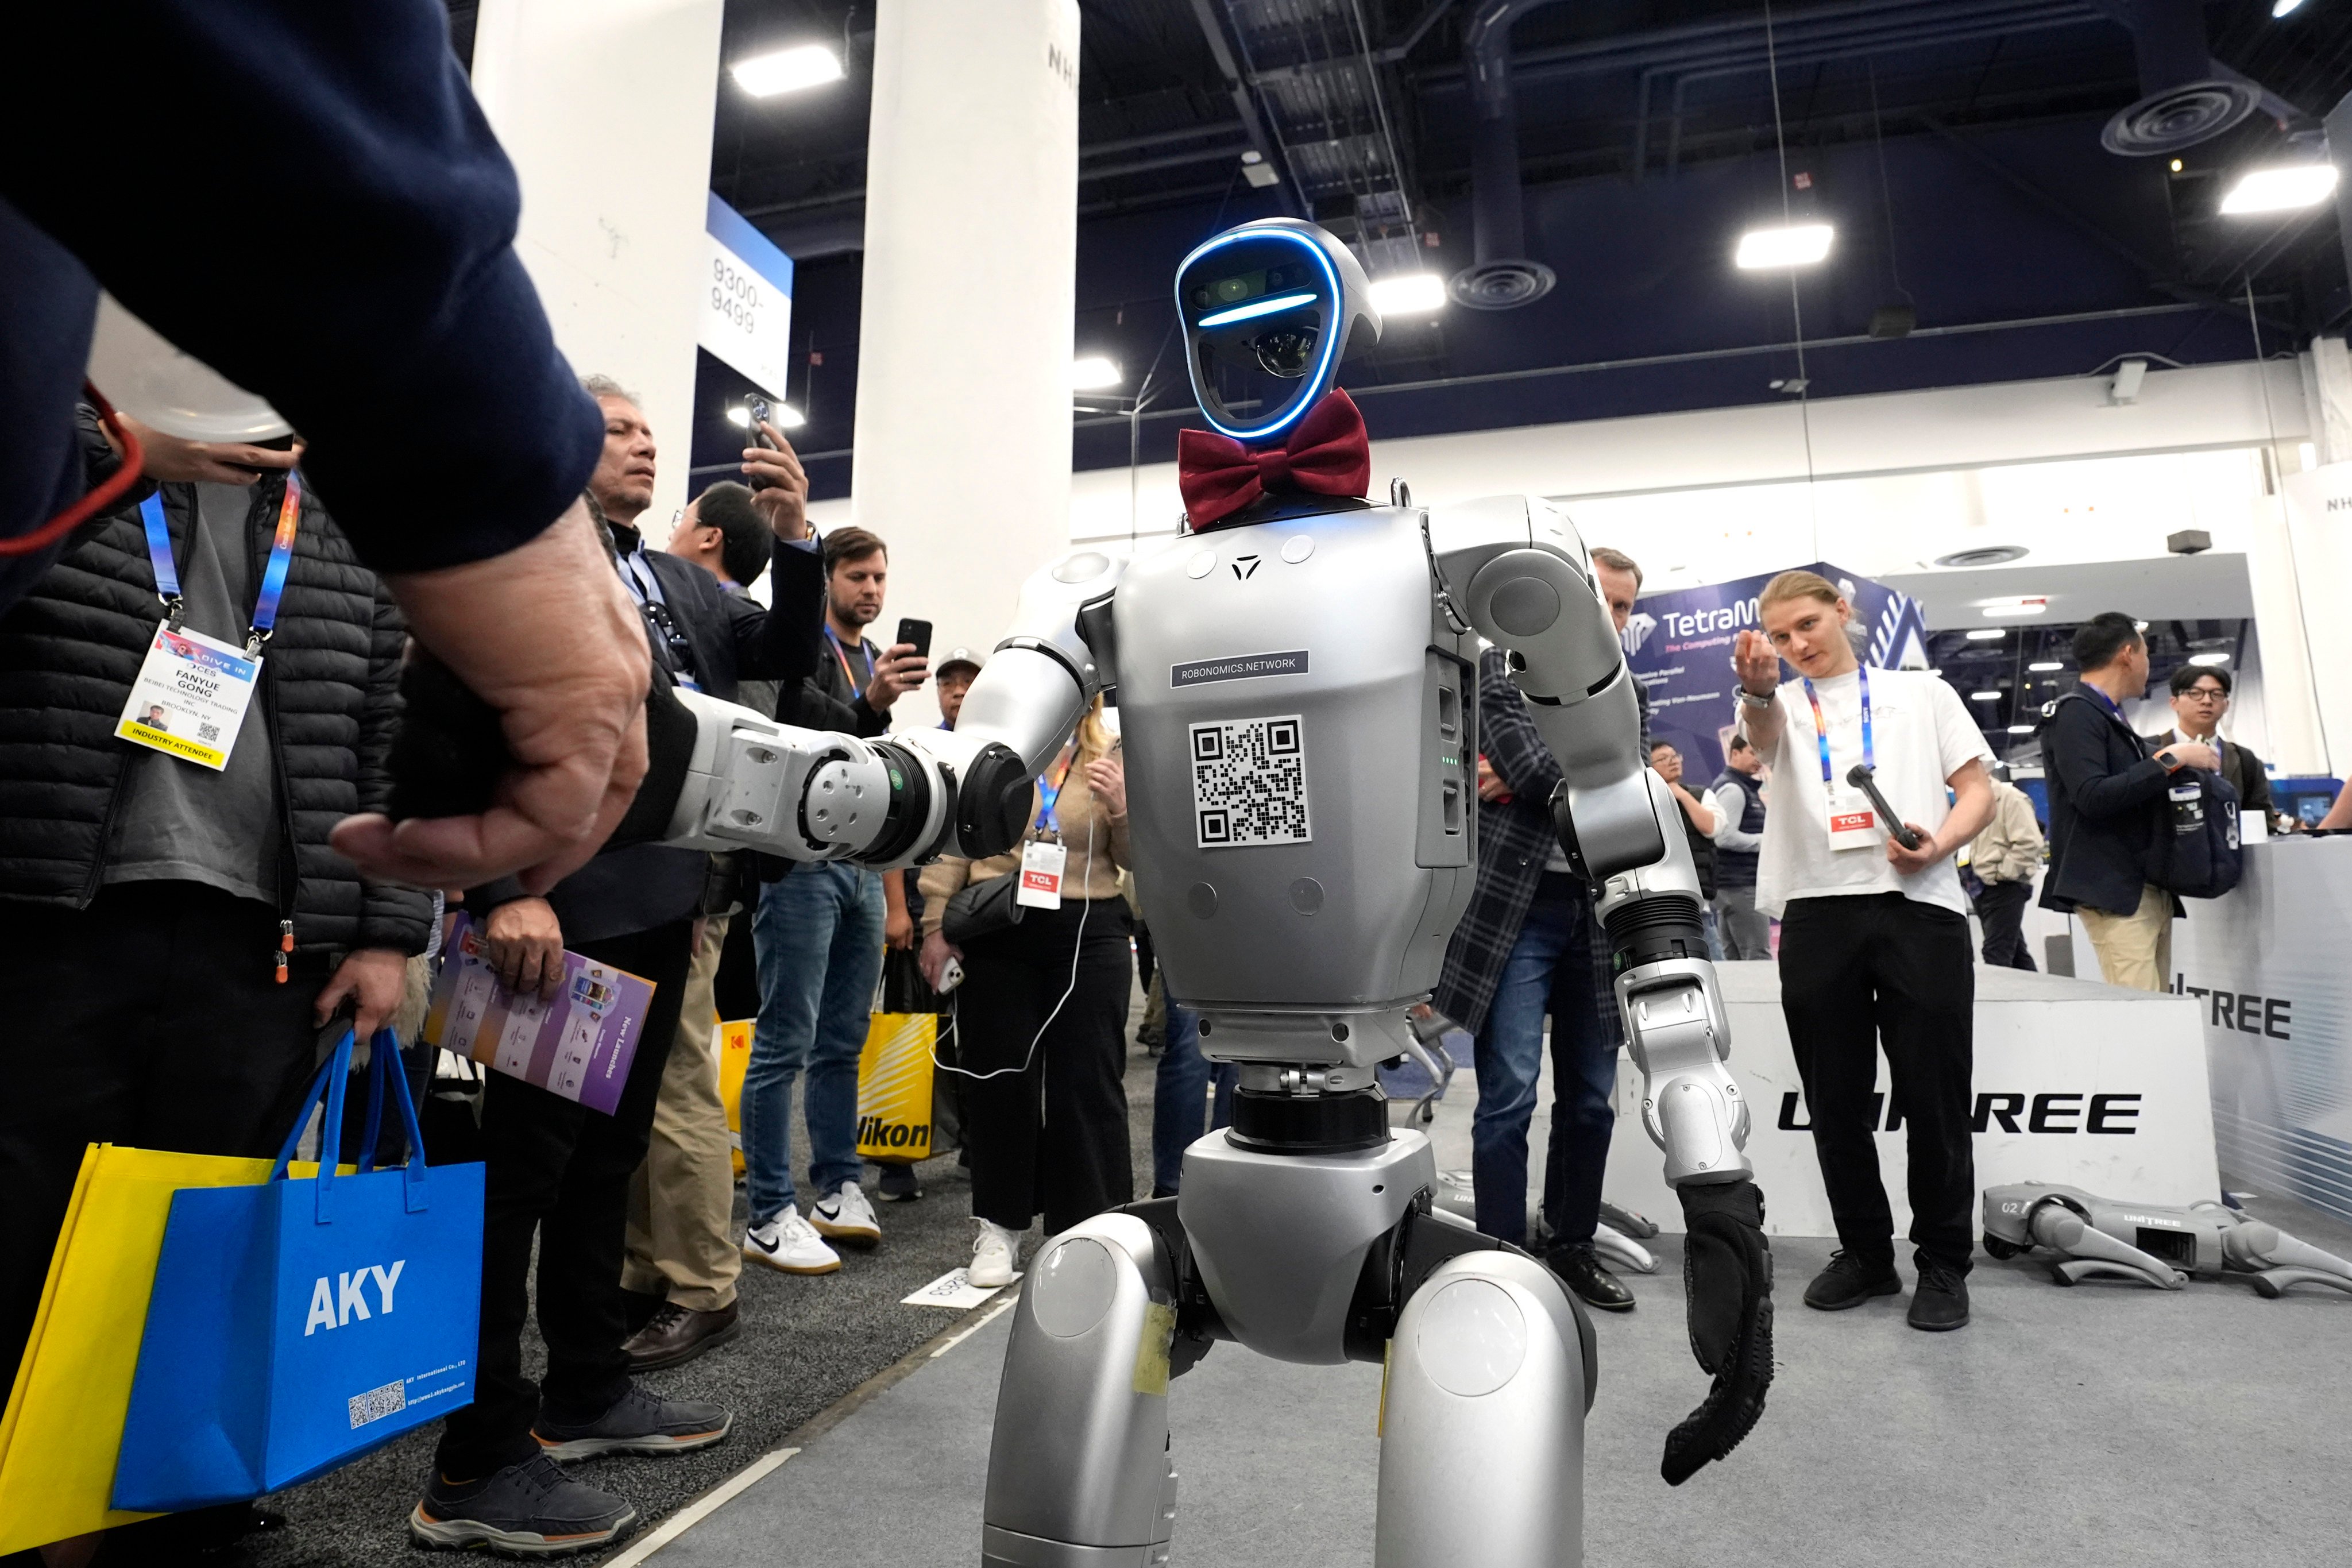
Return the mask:
<path id="1" fill-rule="evenodd" d="M 621 1284 L 668 1295 L 689 1312 L 722 1309 L 743 1272 L 734 1234 L 734 1145 L 720 1100 L 717 1006 L 710 997 L 724 945 L 727 917 L 713 914 L 687 971 L 677 1044 L 654 1103 L 654 1135 L 628 1185 Z"/>

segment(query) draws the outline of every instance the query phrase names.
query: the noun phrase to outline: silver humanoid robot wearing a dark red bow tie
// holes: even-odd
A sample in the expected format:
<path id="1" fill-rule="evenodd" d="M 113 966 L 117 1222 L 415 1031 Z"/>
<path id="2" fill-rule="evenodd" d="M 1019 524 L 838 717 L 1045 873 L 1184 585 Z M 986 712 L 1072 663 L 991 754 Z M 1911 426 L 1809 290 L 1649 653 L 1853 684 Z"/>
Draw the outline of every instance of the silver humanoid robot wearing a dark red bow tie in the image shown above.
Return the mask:
<path id="1" fill-rule="evenodd" d="M 1284 489 L 1329 458 L 1298 449 L 1301 423 L 1362 435 L 1331 390 L 1381 329 L 1355 256 L 1308 223 L 1247 223 L 1185 256 L 1176 303 L 1202 414 L 1263 480 L 1242 491 L 1265 494 L 1134 562 L 1073 550 L 1044 567 L 953 731 L 811 733 L 687 691 L 682 741 L 654 703 L 640 806 L 675 785 L 659 837 L 684 846 L 875 867 L 993 856 L 1117 689 L 1145 917 L 1240 1088 L 1232 1126 L 1185 1152 L 1181 1199 L 1096 1215 L 1030 1262 L 983 1561 L 1169 1561 L 1169 1380 L 1235 1340 L 1385 1361 L 1381 1568 L 1576 1563 L 1592 1328 L 1550 1269 L 1432 1204 L 1430 1143 L 1390 1128 L 1374 1070 L 1421 1051 L 1406 1013 L 1470 898 L 1484 637 L 1566 776 L 1562 846 L 1606 884 L 1644 1124 L 1689 1220 L 1691 1345 L 1715 1385 L 1663 1472 L 1679 1483 L 1729 1453 L 1771 1382 L 1771 1258 L 1677 809 L 1559 512 Z M 680 745 L 675 783 L 661 757 Z"/>

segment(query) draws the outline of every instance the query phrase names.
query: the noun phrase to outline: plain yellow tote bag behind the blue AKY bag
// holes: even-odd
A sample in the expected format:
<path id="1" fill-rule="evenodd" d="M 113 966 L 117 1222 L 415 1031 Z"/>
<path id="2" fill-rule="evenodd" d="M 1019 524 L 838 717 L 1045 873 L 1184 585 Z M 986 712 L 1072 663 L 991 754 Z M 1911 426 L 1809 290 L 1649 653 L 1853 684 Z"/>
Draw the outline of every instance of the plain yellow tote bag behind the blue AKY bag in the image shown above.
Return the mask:
<path id="1" fill-rule="evenodd" d="M 315 1171 L 315 1166 L 313 1166 Z M 153 1514 L 106 1507 L 172 1194 L 256 1187 L 268 1159 L 94 1143 L 0 1415 L 0 1556 Z"/>

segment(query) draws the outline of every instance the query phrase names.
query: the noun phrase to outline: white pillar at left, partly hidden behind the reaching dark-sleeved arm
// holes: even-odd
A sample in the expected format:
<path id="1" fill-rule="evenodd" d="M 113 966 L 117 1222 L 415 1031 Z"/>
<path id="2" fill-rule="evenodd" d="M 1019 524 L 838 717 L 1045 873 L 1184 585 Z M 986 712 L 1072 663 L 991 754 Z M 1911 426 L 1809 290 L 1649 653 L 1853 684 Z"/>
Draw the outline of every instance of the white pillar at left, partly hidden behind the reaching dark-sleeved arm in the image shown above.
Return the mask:
<path id="1" fill-rule="evenodd" d="M 515 252 L 579 374 L 644 400 L 654 541 L 687 498 L 724 0 L 482 0 L 473 92 L 522 176 Z"/>

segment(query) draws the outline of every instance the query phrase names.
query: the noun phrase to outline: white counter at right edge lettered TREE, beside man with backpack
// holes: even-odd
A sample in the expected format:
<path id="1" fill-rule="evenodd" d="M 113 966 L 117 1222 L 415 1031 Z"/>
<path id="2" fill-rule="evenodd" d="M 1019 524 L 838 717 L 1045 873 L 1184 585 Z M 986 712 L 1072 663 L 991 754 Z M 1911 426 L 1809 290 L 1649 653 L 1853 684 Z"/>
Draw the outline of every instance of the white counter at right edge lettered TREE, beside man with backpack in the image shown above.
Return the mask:
<path id="1" fill-rule="evenodd" d="M 2249 844 L 2227 898 L 2185 903 L 2173 990 L 2201 1023 L 2223 1168 L 2352 1220 L 2352 839 Z"/>

